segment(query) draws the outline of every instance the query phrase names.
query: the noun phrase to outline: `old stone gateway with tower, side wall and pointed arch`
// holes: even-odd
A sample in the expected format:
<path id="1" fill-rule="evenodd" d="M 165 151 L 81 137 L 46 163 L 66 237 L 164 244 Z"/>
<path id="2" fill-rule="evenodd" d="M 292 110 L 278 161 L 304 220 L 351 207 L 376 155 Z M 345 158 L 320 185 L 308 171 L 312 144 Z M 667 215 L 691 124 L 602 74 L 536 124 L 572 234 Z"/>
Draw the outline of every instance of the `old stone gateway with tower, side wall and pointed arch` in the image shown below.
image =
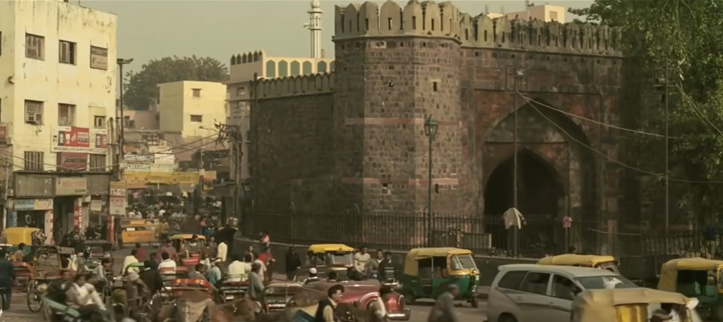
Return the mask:
<path id="1" fill-rule="evenodd" d="M 499 216 L 513 206 L 516 115 L 518 209 L 602 230 L 620 218 L 625 171 L 593 150 L 621 146 L 581 117 L 620 126 L 630 113 L 618 37 L 450 2 L 337 6 L 335 72 L 250 87 L 254 207 L 423 213 L 431 115 L 433 211 Z"/>

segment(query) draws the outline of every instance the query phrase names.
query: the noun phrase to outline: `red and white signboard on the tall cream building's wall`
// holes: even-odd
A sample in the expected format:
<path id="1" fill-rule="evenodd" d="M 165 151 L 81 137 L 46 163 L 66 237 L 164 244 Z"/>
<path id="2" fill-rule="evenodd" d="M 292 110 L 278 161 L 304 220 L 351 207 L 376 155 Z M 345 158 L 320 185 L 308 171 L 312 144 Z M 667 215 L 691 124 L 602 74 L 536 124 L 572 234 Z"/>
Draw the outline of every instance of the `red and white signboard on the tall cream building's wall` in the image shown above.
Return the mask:
<path id="1" fill-rule="evenodd" d="M 53 126 L 51 152 L 108 153 L 108 130 Z"/>

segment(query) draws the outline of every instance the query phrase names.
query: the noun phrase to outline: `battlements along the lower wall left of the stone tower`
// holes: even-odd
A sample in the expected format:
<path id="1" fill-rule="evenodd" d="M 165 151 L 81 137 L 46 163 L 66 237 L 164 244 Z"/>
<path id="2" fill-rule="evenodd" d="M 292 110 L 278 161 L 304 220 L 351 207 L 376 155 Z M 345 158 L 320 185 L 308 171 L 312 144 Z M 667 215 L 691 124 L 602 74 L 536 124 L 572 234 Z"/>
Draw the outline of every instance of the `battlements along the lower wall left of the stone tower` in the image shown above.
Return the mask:
<path id="1" fill-rule="evenodd" d="M 260 99 L 333 92 L 334 73 L 265 79 L 259 85 Z"/>

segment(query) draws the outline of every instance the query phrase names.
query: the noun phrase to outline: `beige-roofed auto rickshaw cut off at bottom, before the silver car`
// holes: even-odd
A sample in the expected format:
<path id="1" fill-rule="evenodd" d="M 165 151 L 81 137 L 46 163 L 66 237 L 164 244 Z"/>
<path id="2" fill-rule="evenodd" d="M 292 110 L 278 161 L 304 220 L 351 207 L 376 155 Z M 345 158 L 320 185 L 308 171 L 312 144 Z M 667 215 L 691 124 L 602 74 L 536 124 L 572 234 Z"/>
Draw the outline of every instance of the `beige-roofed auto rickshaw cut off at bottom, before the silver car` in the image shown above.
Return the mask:
<path id="1" fill-rule="evenodd" d="M 703 321 L 694 310 L 698 305 L 695 298 L 640 287 L 581 292 L 573 300 L 570 322 L 648 322 L 664 303 L 679 305 L 679 310 L 685 311 L 687 318 L 681 322 Z"/>

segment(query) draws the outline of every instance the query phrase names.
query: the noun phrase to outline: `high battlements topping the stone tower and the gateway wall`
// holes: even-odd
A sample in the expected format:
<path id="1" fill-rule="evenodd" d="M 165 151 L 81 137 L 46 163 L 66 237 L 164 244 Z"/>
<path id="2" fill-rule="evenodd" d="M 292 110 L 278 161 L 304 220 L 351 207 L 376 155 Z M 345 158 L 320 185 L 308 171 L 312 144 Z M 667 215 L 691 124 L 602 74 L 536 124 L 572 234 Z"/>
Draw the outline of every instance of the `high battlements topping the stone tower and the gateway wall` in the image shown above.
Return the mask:
<path id="1" fill-rule="evenodd" d="M 453 38 L 465 47 L 510 48 L 555 53 L 619 56 L 620 32 L 589 23 L 472 17 L 451 3 L 394 1 L 335 8 L 334 40 L 360 37 L 415 36 Z"/>

